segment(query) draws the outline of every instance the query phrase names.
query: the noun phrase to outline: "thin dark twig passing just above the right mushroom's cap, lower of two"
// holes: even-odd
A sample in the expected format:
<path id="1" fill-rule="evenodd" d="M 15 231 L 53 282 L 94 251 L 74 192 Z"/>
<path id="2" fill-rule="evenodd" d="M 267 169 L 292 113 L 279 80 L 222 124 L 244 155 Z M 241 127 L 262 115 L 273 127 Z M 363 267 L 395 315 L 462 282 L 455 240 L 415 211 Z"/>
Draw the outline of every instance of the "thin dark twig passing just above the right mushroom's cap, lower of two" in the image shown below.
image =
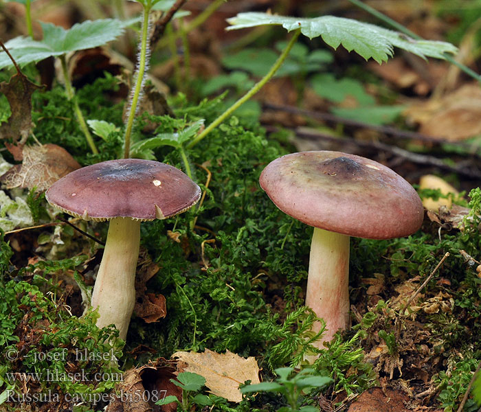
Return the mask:
<path id="1" fill-rule="evenodd" d="M 381 143 L 380 141 L 353 140 L 353 139 L 348 139 L 347 137 L 338 137 L 338 136 L 328 135 L 326 133 L 320 133 L 317 130 L 313 130 L 306 127 L 296 128 L 295 134 L 298 135 L 299 137 L 303 137 L 304 139 L 311 139 L 311 140 L 323 139 L 323 140 L 335 141 L 340 144 L 350 143 L 350 144 L 359 146 L 361 148 L 374 148 L 377 150 L 390 152 L 392 153 L 392 155 L 402 157 L 404 159 L 412 161 L 413 163 L 435 166 L 436 168 L 449 170 L 450 172 L 456 172 L 458 174 L 462 174 L 463 176 L 468 176 L 471 179 L 481 179 L 481 170 L 477 168 L 469 168 L 469 169 L 465 168 L 463 167 L 462 164 L 460 164 L 460 162 L 454 165 L 449 165 L 444 161 L 442 161 L 441 159 L 438 159 L 437 157 L 421 155 L 419 153 L 413 153 L 413 152 L 410 152 L 409 150 L 405 150 L 405 149 L 398 148 L 396 146 L 390 146 L 388 144 Z"/>

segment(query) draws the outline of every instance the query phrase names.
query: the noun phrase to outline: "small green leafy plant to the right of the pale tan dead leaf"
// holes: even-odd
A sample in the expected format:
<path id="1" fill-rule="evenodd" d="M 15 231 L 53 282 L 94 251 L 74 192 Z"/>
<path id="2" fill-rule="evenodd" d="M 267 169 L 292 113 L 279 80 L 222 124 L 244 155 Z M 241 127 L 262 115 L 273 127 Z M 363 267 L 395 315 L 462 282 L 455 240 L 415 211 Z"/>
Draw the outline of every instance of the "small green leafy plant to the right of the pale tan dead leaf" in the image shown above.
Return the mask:
<path id="1" fill-rule="evenodd" d="M 277 392 L 281 393 L 289 406 L 281 407 L 278 412 L 317 412 L 318 408 L 305 405 L 301 396 L 314 388 L 325 388 L 333 381 L 326 376 L 319 376 L 313 369 L 305 368 L 293 374 L 293 367 L 280 367 L 275 370 L 278 378 L 271 382 L 260 382 L 240 388 L 242 393 Z"/>

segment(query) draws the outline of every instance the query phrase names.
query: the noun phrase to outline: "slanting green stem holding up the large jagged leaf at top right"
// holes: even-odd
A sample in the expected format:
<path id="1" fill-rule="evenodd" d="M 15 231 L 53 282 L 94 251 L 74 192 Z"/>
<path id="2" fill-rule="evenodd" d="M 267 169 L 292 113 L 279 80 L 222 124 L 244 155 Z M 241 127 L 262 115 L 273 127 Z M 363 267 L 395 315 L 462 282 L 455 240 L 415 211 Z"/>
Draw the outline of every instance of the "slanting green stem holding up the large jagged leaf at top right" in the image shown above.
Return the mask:
<path id="1" fill-rule="evenodd" d="M 276 74 L 276 71 L 282 66 L 282 63 L 284 60 L 286 60 L 287 56 L 289 55 L 289 52 L 291 51 L 295 41 L 298 39 L 300 35 L 300 29 L 295 30 L 293 36 L 291 37 L 291 40 L 287 44 L 286 48 L 282 51 L 282 54 L 278 57 L 276 62 L 273 64 L 271 69 L 269 70 L 269 73 L 267 73 L 262 79 L 260 79 L 254 86 L 247 92 L 245 95 L 243 95 L 242 98 L 237 100 L 230 108 L 227 108 L 227 110 L 222 113 L 219 117 L 217 117 L 214 122 L 212 122 L 209 126 L 207 126 L 202 133 L 200 133 L 195 139 L 193 139 L 190 144 L 188 144 L 187 148 L 190 149 L 196 144 L 199 143 L 205 136 L 207 136 L 214 128 L 219 126 L 227 117 L 232 115 L 234 111 L 236 111 L 240 106 L 242 106 L 247 100 L 249 100 L 253 95 L 255 95 L 262 87 L 271 80 L 271 78 Z"/>

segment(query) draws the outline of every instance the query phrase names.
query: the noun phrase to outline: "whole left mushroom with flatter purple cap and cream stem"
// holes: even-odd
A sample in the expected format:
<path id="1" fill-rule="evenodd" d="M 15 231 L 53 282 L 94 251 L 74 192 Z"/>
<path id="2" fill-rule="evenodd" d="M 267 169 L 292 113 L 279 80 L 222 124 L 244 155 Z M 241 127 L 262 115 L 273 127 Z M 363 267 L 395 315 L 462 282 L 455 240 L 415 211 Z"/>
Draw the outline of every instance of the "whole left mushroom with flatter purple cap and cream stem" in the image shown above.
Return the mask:
<path id="1" fill-rule="evenodd" d="M 100 314 L 99 328 L 113 323 L 120 338 L 126 338 L 135 304 L 140 222 L 182 213 L 200 196 L 199 186 L 180 170 L 142 159 L 90 165 L 67 174 L 47 190 L 47 201 L 67 214 L 109 220 L 91 299 Z"/>

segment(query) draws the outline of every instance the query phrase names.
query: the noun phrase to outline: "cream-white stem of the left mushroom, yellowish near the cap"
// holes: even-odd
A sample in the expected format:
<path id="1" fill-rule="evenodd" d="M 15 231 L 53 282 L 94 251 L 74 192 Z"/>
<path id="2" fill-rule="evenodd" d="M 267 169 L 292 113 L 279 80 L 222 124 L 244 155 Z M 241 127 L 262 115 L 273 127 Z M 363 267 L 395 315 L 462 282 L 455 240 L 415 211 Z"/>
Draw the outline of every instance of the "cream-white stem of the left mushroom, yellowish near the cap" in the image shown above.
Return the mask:
<path id="1" fill-rule="evenodd" d="M 98 308 L 100 314 L 98 327 L 113 323 L 124 340 L 135 305 L 135 268 L 139 244 L 139 220 L 113 218 L 93 286 L 91 304 L 94 309 Z"/>

